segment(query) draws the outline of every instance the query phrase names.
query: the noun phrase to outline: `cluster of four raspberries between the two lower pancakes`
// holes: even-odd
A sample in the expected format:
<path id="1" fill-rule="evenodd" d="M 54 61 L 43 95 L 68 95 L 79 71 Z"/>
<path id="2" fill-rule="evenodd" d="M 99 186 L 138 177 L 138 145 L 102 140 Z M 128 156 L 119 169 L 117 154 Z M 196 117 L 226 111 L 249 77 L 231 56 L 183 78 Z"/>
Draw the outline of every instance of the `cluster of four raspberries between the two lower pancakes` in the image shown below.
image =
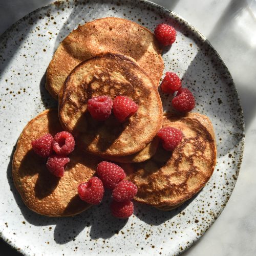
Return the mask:
<path id="1" fill-rule="evenodd" d="M 117 218 L 129 218 L 133 214 L 134 206 L 131 200 L 137 194 L 137 186 L 129 180 L 123 180 L 126 177 L 124 170 L 114 163 L 100 162 L 97 175 L 98 177 L 78 186 L 79 197 L 89 204 L 99 204 L 104 195 L 104 188 L 111 189 L 112 215 Z"/>

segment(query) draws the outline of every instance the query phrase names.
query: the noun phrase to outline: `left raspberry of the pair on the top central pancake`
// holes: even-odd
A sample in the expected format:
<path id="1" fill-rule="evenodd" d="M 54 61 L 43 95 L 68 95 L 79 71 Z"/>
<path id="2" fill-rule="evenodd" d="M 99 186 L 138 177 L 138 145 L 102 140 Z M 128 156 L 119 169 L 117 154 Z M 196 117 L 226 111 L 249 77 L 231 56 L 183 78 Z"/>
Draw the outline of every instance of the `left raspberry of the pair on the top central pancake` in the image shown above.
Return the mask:
<path id="1" fill-rule="evenodd" d="M 87 108 L 94 119 L 104 121 L 111 115 L 112 105 L 113 101 L 109 96 L 98 96 L 88 100 Z"/>

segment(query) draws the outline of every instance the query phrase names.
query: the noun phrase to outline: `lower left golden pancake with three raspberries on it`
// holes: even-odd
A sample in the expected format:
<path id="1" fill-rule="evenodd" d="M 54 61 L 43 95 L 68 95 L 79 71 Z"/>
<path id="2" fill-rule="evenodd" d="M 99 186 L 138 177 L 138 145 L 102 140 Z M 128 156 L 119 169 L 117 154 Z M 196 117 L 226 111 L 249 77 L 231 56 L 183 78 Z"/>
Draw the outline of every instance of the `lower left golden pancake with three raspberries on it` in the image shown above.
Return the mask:
<path id="1" fill-rule="evenodd" d="M 20 134 L 12 162 L 14 184 L 24 203 L 41 215 L 73 216 L 91 205 L 80 200 L 77 186 L 95 174 L 101 161 L 96 156 L 74 150 L 62 178 L 52 175 L 46 167 L 47 159 L 34 153 L 31 141 L 50 133 L 62 131 L 57 110 L 46 110 L 32 119 Z"/>

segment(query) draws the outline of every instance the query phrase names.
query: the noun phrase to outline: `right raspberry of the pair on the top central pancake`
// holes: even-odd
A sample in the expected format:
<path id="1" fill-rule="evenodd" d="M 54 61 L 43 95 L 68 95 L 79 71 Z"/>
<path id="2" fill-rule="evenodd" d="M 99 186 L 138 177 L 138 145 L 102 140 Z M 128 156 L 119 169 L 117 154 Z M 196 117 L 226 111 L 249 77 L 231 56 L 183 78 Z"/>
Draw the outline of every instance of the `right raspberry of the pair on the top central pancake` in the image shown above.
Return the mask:
<path id="1" fill-rule="evenodd" d="M 113 100 L 113 113 L 119 122 L 124 122 L 138 110 L 138 105 L 129 97 L 117 96 Z"/>

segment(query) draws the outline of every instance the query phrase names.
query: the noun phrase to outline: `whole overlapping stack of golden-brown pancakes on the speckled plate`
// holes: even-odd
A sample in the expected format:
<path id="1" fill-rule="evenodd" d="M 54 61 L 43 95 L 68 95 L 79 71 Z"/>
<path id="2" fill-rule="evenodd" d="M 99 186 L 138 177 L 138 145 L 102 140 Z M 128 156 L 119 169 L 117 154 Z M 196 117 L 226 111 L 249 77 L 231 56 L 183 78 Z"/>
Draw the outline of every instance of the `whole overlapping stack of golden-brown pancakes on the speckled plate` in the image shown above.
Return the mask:
<path id="1" fill-rule="evenodd" d="M 77 186 L 95 175 L 103 159 L 120 164 L 138 186 L 135 200 L 159 209 L 175 208 L 194 196 L 216 164 L 212 125 L 206 116 L 163 116 L 158 93 L 163 71 L 154 34 L 121 18 L 94 20 L 72 31 L 59 45 L 47 70 L 46 88 L 58 99 L 57 110 L 31 120 L 19 137 L 13 179 L 26 205 L 46 216 L 72 216 L 90 205 L 78 198 Z M 90 98 L 132 98 L 138 111 L 119 123 L 104 122 L 87 110 Z M 161 127 L 180 129 L 183 140 L 164 151 L 156 137 Z M 31 141 L 65 130 L 76 141 L 64 177 L 56 178 L 32 151 Z"/>

